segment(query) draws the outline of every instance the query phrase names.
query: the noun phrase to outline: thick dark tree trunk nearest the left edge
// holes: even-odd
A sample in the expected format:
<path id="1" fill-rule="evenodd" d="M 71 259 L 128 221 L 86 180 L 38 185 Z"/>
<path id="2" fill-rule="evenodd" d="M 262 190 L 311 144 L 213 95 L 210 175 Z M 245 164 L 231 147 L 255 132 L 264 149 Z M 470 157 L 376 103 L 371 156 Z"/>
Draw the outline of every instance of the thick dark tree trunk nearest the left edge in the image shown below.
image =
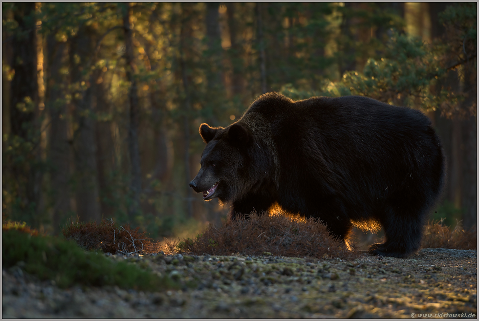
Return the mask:
<path id="1" fill-rule="evenodd" d="M 12 69 L 15 70 L 10 92 L 10 133 L 23 142 L 38 146 L 40 137 L 34 122 L 38 107 L 35 3 L 18 2 L 15 6 L 14 19 L 18 23 L 18 31 L 9 44 L 13 51 Z M 26 220 L 29 225 L 38 226 L 36 211 L 40 186 L 38 170 L 34 166 L 39 159 L 37 150 L 31 150 L 25 158 L 25 161 L 12 168 L 12 175 L 18 182 L 16 192 L 20 206 L 22 212 L 27 213 L 25 217 L 19 218 Z"/>

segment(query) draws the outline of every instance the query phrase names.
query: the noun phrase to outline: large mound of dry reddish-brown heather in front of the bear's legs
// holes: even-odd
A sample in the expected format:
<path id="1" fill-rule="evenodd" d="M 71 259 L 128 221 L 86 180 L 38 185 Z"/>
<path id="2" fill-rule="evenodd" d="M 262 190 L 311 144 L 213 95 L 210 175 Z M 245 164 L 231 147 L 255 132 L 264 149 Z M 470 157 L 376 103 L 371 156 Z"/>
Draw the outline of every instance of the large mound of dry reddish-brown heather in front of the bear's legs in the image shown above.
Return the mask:
<path id="1" fill-rule="evenodd" d="M 274 255 L 285 257 L 336 257 L 350 259 L 358 252 L 348 250 L 345 242 L 332 238 L 326 226 L 315 218 L 273 212 L 251 213 L 220 228 L 209 226 L 195 239 L 167 241 L 167 252 L 197 255 Z"/>

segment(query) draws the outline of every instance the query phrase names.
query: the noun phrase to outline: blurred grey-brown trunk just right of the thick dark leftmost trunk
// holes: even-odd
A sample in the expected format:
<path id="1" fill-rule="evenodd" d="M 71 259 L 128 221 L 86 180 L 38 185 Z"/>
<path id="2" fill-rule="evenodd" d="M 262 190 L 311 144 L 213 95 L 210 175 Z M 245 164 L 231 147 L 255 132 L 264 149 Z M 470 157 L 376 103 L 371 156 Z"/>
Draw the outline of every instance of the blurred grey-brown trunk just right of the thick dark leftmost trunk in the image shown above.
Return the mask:
<path id="1" fill-rule="evenodd" d="M 68 142 L 68 117 L 65 102 L 66 79 L 60 73 L 65 64 L 66 43 L 57 42 L 55 35 L 47 36 L 47 109 L 51 119 L 50 162 L 53 201 L 53 231 L 60 232 L 60 225 L 71 211 L 68 181 L 70 179 L 71 149 Z"/>

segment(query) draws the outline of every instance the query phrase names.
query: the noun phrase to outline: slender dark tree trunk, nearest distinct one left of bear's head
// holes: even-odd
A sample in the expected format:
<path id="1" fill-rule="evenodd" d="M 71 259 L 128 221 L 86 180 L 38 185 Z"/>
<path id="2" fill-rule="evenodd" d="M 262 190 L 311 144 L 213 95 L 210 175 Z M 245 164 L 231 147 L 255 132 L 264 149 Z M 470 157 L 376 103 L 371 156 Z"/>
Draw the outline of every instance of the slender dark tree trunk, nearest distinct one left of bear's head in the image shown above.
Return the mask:
<path id="1" fill-rule="evenodd" d="M 130 101 L 130 128 L 128 131 L 128 149 L 130 151 L 131 166 L 131 205 L 128 209 L 128 215 L 133 220 L 134 216 L 140 210 L 140 193 L 141 193 L 141 162 L 140 149 L 138 146 L 138 86 L 135 78 L 136 64 L 133 52 L 133 30 L 131 29 L 131 4 L 128 2 L 123 15 L 123 28 L 125 30 L 125 46 L 126 46 L 126 63 L 127 63 L 127 79 L 130 82 L 130 90 L 128 98 Z"/>

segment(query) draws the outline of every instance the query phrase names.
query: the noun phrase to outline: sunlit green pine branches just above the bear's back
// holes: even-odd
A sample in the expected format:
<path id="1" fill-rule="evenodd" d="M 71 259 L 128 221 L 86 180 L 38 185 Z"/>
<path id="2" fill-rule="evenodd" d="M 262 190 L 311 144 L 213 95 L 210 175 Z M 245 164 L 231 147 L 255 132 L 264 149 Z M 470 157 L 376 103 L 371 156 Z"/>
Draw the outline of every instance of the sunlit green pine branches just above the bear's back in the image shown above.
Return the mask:
<path id="1" fill-rule="evenodd" d="M 441 104 L 457 104 L 454 93 L 431 91 L 446 70 L 437 61 L 435 48 L 420 39 L 393 34 L 386 46 L 384 58 L 369 59 L 362 72 L 348 71 L 338 82 L 326 81 L 321 91 L 305 91 L 291 85 L 281 92 L 293 99 L 311 96 L 339 97 L 358 95 L 385 103 L 435 110 Z"/>

